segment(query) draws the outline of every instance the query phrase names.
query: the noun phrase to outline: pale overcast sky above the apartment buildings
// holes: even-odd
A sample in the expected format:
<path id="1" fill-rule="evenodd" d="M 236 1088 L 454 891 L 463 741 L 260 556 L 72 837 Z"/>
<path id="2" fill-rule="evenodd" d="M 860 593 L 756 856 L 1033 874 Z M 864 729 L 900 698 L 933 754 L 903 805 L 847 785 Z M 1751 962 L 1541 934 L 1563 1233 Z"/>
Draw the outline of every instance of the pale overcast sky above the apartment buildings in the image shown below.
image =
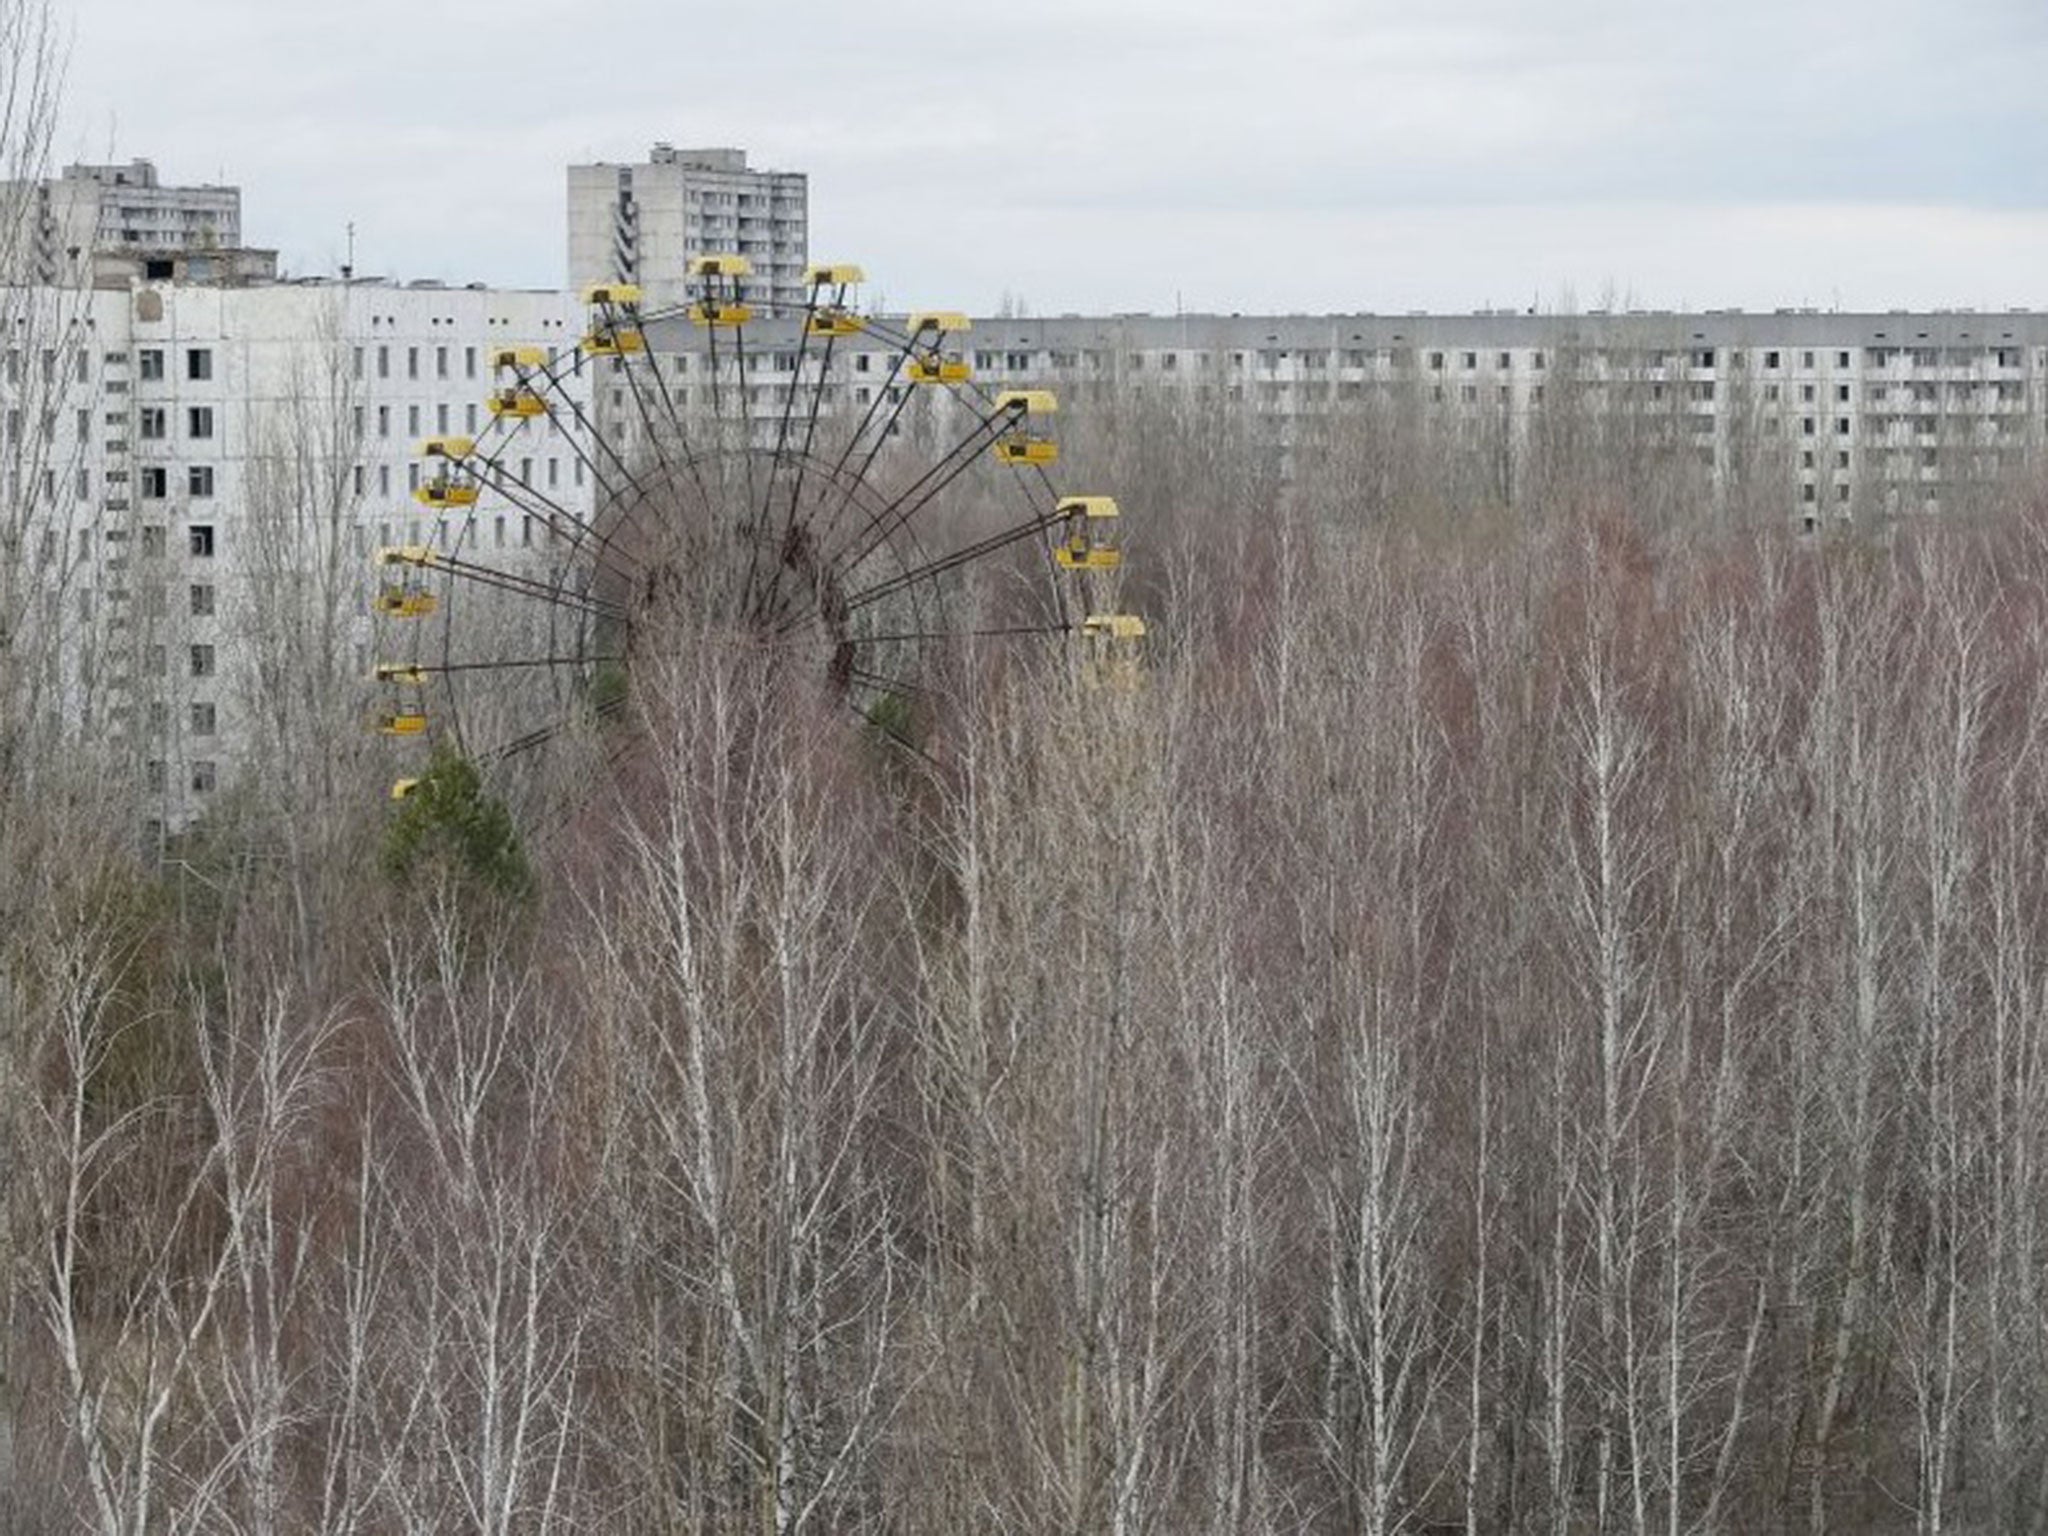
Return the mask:
<path id="1" fill-rule="evenodd" d="M 59 158 L 295 272 L 557 287 L 563 166 L 670 139 L 899 307 L 2048 307 L 2042 0 L 55 6 Z"/>

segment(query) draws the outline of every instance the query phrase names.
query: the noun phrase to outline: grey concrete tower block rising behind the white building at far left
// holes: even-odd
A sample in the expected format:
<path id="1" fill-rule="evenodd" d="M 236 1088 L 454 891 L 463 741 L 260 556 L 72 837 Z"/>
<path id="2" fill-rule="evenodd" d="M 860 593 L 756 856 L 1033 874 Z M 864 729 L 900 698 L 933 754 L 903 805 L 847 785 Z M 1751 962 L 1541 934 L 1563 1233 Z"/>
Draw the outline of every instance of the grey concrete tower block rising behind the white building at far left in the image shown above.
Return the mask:
<path id="1" fill-rule="evenodd" d="M 94 258 L 143 262 L 242 246 L 240 186 L 166 186 L 156 166 L 66 166 L 41 182 L 8 182 L 4 209 L 27 225 L 6 281 L 90 281 Z M 168 272 L 164 272 L 168 276 Z"/>

